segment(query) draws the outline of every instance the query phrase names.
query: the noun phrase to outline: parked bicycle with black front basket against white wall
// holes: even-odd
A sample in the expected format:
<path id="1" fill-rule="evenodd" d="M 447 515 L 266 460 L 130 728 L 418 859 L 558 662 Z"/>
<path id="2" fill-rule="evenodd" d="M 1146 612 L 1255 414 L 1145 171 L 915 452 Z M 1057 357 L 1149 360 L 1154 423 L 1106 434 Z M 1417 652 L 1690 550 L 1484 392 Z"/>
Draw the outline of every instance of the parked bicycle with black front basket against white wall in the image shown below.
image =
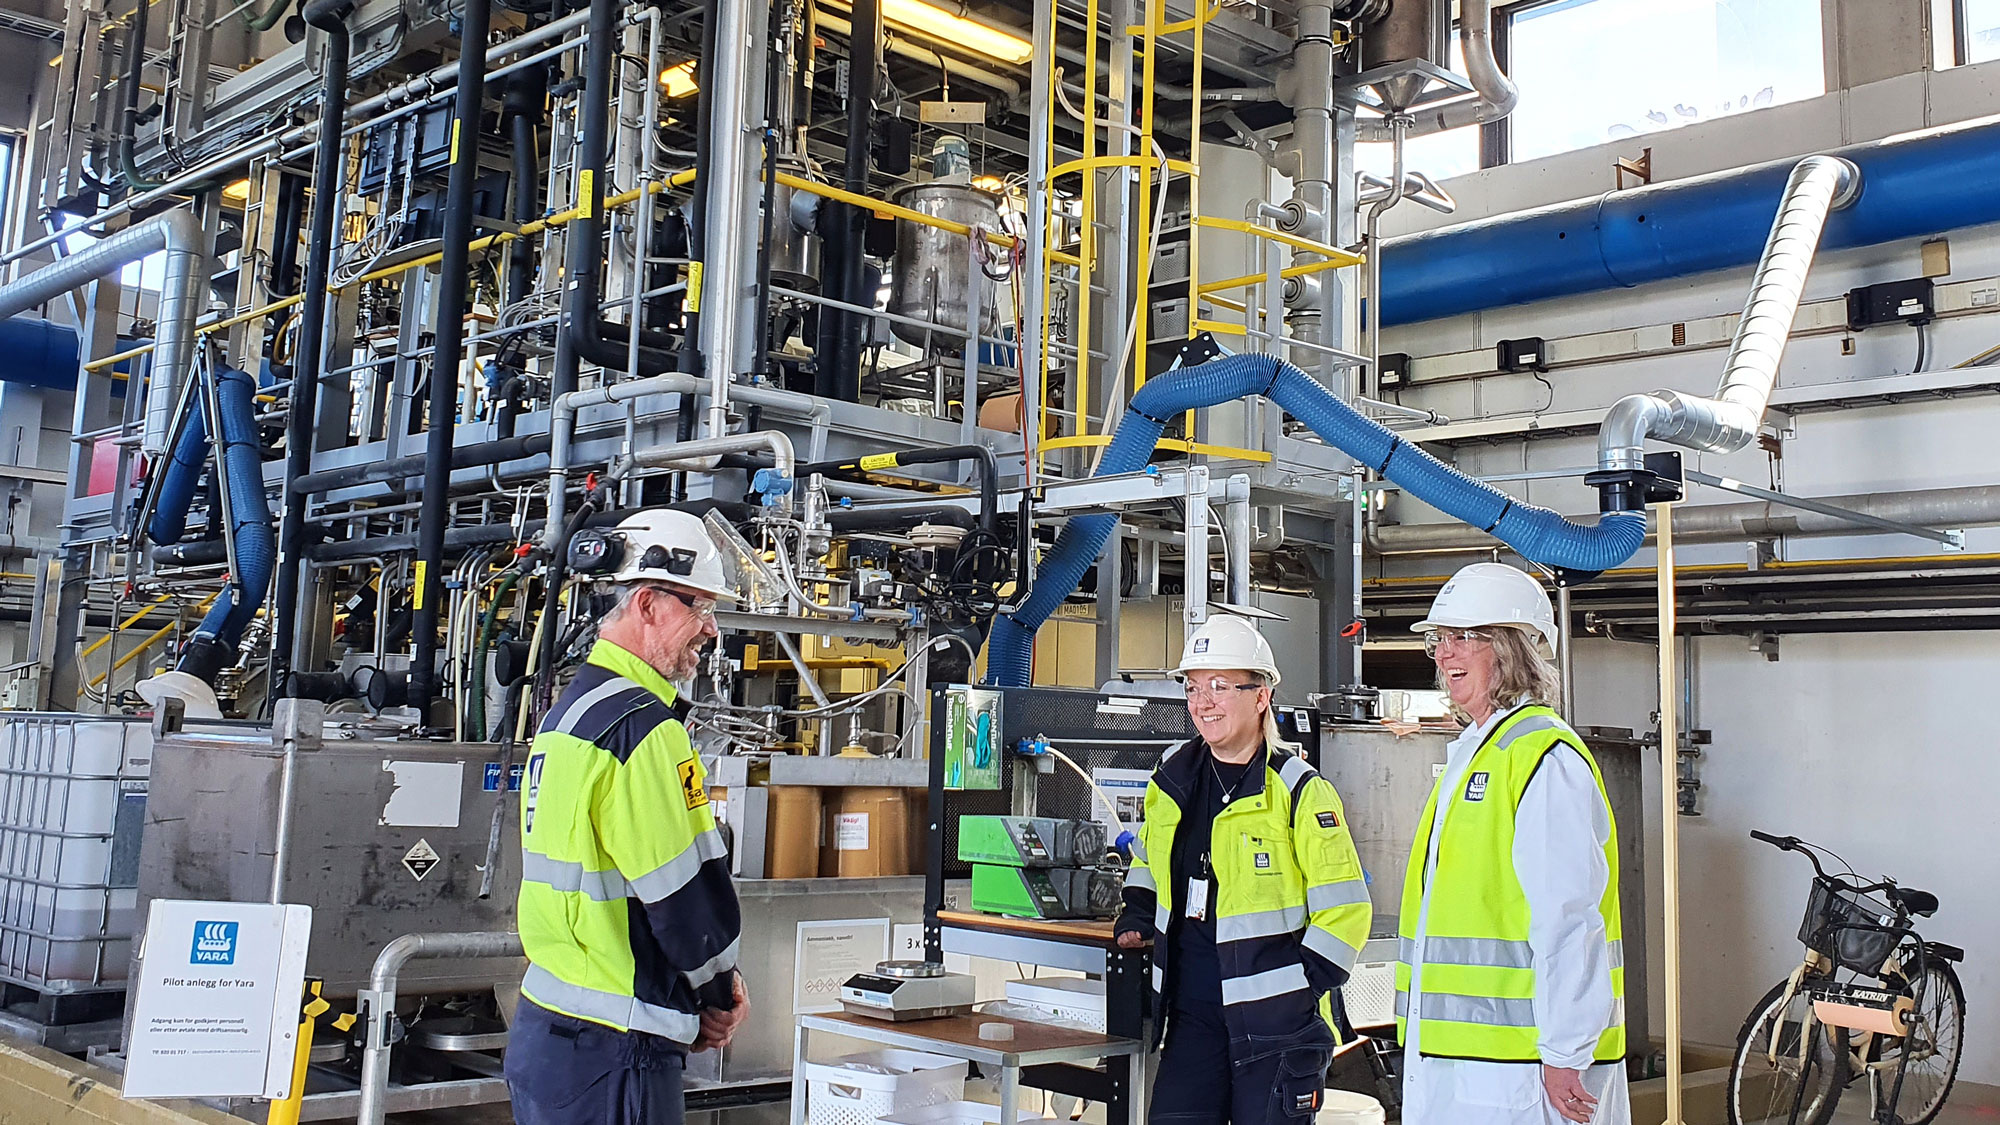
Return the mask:
<path id="1" fill-rule="evenodd" d="M 1840 1095 L 1868 1079 L 1870 1121 L 1928 1125 L 1952 1091 L 1964 1053 L 1966 991 L 1952 963 L 1964 949 L 1924 941 L 1912 915 L 1938 897 L 1894 879 L 1828 875 L 1828 849 L 1798 837 L 1750 833 L 1812 861 L 1812 895 L 1798 941 L 1806 959 L 1750 1011 L 1730 1057 L 1730 1125 L 1824 1125 Z M 1844 861 L 1842 861 L 1844 865 Z M 1902 1099 L 1920 1113 L 1898 1117 Z"/>

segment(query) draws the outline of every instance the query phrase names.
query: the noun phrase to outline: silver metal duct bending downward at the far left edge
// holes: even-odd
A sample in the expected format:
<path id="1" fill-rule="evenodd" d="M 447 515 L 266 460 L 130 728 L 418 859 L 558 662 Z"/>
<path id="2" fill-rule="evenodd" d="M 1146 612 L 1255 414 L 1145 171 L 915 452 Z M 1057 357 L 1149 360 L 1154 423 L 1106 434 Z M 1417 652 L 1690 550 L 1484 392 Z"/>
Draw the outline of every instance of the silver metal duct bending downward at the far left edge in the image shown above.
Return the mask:
<path id="1" fill-rule="evenodd" d="M 86 250 L 0 286 L 0 318 L 16 316 L 162 250 L 166 252 L 166 280 L 160 286 L 160 328 L 154 338 L 152 376 L 146 386 L 142 444 L 148 454 L 166 452 L 180 378 L 194 358 L 194 318 L 206 304 L 208 238 L 194 212 L 176 208 L 138 226 L 128 226 L 100 238 Z"/>

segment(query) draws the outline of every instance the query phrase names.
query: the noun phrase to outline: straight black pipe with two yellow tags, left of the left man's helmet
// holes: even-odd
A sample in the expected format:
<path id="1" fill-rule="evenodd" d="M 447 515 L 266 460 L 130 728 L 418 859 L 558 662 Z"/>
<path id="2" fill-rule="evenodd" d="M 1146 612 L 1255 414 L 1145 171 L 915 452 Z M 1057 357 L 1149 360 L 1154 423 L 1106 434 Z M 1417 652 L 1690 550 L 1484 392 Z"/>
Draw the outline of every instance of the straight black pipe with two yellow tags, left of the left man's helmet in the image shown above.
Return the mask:
<path id="1" fill-rule="evenodd" d="M 458 438 L 458 372 L 466 350 L 472 286 L 472 186 L 480 174 L 480 116 L 486 102 L 486 32 L 492 0 L 466 0 L 458 16 L 458 90 L 452 94 L 452 170 L 444 184 L 444 258 L 430 352 L 430 430 L 424 434 L 424 500 L 416 512 L 416 575 L 410 705 L 430 725 L 438 695 L 438 609 L 444 601 L 444 526 L 452 522 L 452 446 Z"/>

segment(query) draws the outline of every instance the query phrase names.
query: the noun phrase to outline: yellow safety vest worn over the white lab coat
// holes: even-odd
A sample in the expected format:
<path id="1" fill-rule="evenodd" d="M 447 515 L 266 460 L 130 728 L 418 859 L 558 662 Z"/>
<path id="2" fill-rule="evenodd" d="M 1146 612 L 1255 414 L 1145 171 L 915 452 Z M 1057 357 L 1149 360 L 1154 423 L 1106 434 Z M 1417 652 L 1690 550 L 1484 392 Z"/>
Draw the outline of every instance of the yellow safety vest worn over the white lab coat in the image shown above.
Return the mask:
<path id="1" fill-rule="evenodd" d="M 1424 991 L 1416 1019 L 1418 1049 L 1428 1057 L 1484 1059 L 1496 1063 L 1540 1061 L 1534 1027 L 1534 955 L 1528 947 L 1528 895 L 1514 873 L 1514 815 L 1542 759 L 1558 745 L 1574 747 L 1590 765 L 1604 797 L 1604 775 L 1584 741 L 1548 707 L 1522 707 L 1486 737 L 1464 777 L 1446 795 L 1444 835 L 1438 839 L 1436 883 L 1424 933 Z M 1408 1037 L 1410 959 L 1416 919 L 1424 907 L 1424 867 L 1432 823 L 1438 817 L 1440 777 L 1416 829 L 1410 869 L 1402 885 L 1402 957 L 1396 965 L 1396 1039 Z M 1610 881 L 1598 913 L 1610 943 L 1612 995 L 1624 997 L 1622 925 L 1618 917 L 1618 831 L 1604 841 Z M 1622 1011 L 1622 1005 L 1620 1005 Z M 1624 1059 L 1626 1029 L 1598 1039 L 1594 1059 Z"/>

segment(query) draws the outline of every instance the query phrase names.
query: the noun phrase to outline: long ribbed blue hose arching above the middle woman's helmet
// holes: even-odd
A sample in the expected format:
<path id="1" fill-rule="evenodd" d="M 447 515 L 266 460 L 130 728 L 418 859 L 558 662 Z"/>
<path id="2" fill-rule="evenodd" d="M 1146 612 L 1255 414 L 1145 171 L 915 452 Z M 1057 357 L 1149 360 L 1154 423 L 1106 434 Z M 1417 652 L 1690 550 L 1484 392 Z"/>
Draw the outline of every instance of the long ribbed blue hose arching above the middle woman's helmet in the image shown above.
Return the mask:
<path id="1" fill-rule="evenodd" d="M 1440 512 L 1484 528 L 1534 562 L 1570 571 L 1608 571 L 1630 558 L 1646 540 L 1644 512 L 1606 512 L 1596 524 L 1578 524 L 1548 508 L 1516 500 L 1402 440 L 1334 398 L 1304 370 L 1274 356 L 1224 356 L 1148 380 L 1132 394 L 1096 474 L 1144 468 L 1168 418 L 1248 394 L 1270 398 L 1328 444 Z M 986 683 L 1000 687 L 1028 683 L 1034 631 L 1084 581 L 1084 571 L 1098 560 L 1116 522 L 1116 514 L 1102 512 L 1074 516 L 1062 526 L 1056 546 L 1036 575 L 1034 589 L 1012 613 L 994 619 Z"/>

